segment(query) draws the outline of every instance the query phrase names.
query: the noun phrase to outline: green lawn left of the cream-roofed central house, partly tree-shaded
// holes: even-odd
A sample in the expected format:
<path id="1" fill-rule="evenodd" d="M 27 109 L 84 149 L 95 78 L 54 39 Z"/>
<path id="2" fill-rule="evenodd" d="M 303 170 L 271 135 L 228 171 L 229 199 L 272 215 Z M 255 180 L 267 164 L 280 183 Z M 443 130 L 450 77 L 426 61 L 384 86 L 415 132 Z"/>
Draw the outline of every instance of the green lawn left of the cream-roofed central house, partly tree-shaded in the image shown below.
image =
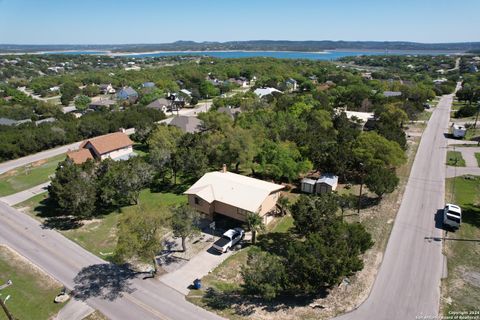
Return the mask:
<path id="1" fill-rule="evenodd" d="M 28 211 L 47 225 L 59 231 L 72 241 L 97 256 L 108 259 L 117 243 L 117 222 L 121 213 L 113 211 L 92 220 L 72 221 L 64 218 L 47 218 L 53 209 L 49 207 L 48 195 L 41 194 L 16 205 L 17 208 L 28 208 Z M 171 207 L 185 203 L 185 195 L 166 192 L 152 192 L 145 189 L 140 193 L 139 204 L 144 211 L 157 211 L 160 206 Z M 120 211 L 132 210 L 136 206 L 124 207 Z"/>

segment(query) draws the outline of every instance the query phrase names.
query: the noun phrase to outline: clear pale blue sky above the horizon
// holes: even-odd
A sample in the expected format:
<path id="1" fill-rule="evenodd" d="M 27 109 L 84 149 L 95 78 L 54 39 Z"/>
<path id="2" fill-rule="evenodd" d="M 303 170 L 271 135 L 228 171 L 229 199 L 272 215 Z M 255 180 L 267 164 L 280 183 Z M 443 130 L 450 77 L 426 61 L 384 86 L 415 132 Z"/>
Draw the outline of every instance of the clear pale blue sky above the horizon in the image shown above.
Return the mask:
<path id="1" fill-rule="evenodd" d="M 0 43 L 480 41 L 479 0 L 0 0 Z"/>

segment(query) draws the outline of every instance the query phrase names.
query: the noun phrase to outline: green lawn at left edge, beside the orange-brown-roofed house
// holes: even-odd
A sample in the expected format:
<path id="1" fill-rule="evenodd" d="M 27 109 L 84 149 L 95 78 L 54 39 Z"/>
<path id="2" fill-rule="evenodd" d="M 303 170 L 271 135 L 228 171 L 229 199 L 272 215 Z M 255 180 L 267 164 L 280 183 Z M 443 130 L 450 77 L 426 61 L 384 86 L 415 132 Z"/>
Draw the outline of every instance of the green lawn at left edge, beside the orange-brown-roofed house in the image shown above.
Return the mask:
<path id="1" fill-rule="evenodd" d="M 0 175 L 0 196 L 17 193 L 47 182 L 49 176 L 55 173 L 59 162 L 65 155 L 59 155 L 45 161 L 38 161 L 29 167 L 19 167 Z"/>

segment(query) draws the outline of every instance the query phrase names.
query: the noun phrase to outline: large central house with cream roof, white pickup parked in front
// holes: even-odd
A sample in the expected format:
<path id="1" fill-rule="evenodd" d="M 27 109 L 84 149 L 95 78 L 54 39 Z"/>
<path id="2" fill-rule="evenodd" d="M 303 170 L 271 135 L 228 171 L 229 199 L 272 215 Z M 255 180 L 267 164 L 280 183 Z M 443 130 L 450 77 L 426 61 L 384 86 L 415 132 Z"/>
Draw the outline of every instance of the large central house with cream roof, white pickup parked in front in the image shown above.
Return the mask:
<path id="1" fill-rule="evenodd" d="M 212 217 L 215 214 L 245 221 L 248 212 L 264 218 L 276 211 L 277 200 L 284 186 L 222 171 L 208 172 L 184 194 L 196 210 Z"/>

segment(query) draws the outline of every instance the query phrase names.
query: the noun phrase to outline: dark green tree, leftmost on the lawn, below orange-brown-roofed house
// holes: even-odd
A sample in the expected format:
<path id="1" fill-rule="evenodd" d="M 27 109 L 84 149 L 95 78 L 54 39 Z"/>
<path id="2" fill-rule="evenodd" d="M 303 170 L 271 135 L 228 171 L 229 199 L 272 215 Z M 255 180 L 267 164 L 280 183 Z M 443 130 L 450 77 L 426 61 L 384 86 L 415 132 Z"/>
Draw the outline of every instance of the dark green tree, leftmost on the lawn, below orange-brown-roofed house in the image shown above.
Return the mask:
<path id="1" fill-rule="evenodd" d="M 60 162 L 48 192 L 50 198 L 64 213 L 90 217 L 95 210 L 97 195 L 93 163 L 89 161 L 79 166 L 71 160 Z"/>

